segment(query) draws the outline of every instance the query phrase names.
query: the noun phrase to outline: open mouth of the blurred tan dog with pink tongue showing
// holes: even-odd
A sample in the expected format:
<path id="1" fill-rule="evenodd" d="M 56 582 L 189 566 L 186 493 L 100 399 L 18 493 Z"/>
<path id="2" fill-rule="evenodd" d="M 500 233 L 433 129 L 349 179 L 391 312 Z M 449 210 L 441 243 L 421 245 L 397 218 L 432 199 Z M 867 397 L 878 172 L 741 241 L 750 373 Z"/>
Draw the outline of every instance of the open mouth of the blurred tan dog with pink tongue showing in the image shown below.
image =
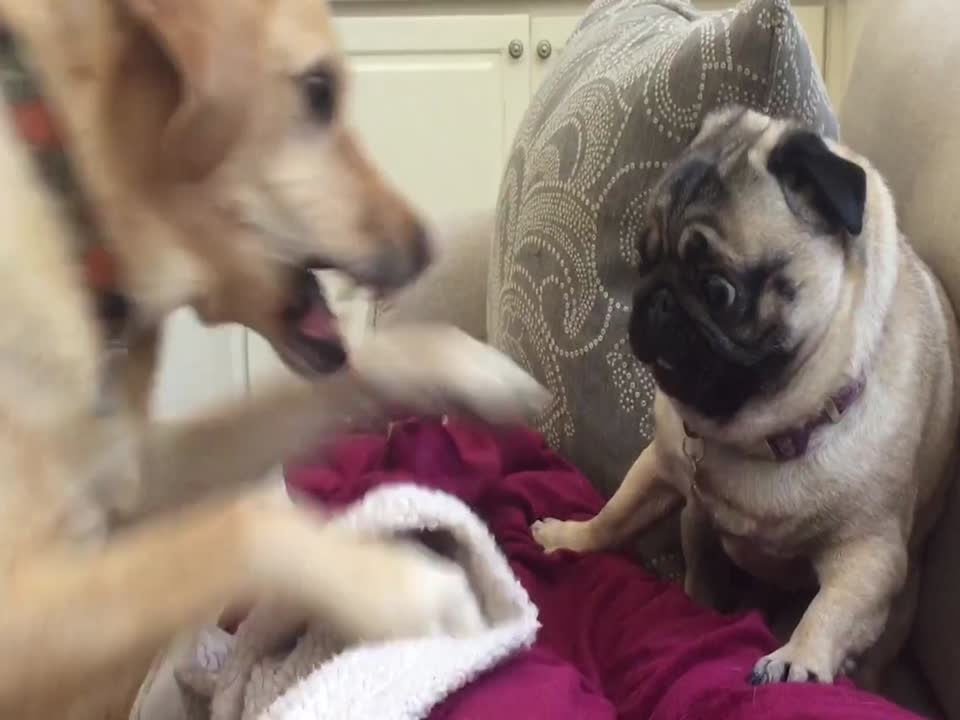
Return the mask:
<path id="1" fill-rule="evenodd" d="M 285 337 L 277 351 L 290 369 L 301 375 L 334 372 L 347 362 L 336 315 L 313 272 L 328 267 L 309 263 L 297 268 L 291 279 L 290 302 L 283 309 Z"/>

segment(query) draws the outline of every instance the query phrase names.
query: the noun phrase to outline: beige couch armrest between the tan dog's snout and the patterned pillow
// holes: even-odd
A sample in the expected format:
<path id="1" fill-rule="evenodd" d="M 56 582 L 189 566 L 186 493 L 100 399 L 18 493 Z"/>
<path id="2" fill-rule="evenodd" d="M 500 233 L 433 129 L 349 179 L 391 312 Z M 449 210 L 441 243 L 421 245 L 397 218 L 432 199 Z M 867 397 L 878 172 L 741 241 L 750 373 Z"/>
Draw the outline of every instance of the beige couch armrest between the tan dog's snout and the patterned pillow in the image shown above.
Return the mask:
<path id="1" fill-rule="evenodd" d="M 377 303 L 374 325 L 443 323 L 486 340 L 494 217 L 491 210 L 438 223 L 433 264 L 411 287 Z"/>

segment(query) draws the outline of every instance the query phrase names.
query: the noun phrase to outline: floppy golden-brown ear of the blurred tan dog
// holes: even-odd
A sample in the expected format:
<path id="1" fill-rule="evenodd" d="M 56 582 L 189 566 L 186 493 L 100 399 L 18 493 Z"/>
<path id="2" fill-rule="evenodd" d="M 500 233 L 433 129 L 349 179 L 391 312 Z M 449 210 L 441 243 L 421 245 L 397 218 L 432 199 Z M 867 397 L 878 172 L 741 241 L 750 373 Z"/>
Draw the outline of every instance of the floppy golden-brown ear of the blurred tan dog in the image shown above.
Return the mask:
<path id="1" fill-rule="evenodd" d="M 180 181 L 216 169 L 242 133 L 261 76 L 252 0 L 118 0 L 177 76 L 178 104 L 157 157 Z"/>

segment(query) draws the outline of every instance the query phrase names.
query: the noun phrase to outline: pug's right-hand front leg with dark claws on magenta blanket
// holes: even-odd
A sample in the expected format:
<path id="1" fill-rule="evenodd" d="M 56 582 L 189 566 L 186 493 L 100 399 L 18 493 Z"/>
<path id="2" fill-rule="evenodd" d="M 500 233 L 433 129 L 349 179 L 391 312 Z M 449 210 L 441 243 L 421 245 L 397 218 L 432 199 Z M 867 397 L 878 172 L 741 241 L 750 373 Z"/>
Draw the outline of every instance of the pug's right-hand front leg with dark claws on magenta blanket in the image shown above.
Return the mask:
<path id="1" fill-rule="evenodd" d="M 751 682 L 833 682 L 880 637 L 907 577 L 899 533 L 858 538 L 814 559 L 820 591 L 790 642 L 762 658 Z"/>

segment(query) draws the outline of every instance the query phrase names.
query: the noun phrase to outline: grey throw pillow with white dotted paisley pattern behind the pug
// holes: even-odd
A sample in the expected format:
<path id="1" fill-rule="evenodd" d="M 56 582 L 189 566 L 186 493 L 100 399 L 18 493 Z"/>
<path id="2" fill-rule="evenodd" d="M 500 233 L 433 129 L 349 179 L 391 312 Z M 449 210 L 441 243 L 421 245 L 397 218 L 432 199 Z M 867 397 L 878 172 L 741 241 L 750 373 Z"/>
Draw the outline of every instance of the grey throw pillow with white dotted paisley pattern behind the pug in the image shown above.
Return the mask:
<path id="1" fill-rule="evenodd" d="M 508 162 L 490 339 L 555 393 L 540 429 L 608 495 L 653 434 L 653 381 L 627 343 L 647 194 L 704 115 L 731 103 L 836 136 L 788 0 L 722 13 L 680 0 L 598 0 L 537 92 Z M 641 548 L 648 561 L 663 538 L 675 546 L 669 527 L 659 535 Z"/>

